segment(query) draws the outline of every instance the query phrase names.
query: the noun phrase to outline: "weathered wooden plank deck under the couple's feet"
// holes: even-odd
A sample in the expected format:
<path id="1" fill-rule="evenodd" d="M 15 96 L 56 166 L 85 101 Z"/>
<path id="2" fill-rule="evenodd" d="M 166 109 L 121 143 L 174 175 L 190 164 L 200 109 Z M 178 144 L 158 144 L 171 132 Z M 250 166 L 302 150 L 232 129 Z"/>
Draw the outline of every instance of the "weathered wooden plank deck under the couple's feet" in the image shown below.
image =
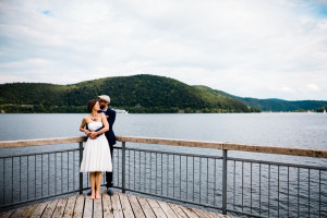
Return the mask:
<path id="1" fill-rule="evenodd" d="M 0 218 L 15 217 L 113 217 L 113 218 L 227 218 L 207 210 L 174 205 L 116 192 L 102 193 L 101 199 L 77 195 L 2 213 Z"/>

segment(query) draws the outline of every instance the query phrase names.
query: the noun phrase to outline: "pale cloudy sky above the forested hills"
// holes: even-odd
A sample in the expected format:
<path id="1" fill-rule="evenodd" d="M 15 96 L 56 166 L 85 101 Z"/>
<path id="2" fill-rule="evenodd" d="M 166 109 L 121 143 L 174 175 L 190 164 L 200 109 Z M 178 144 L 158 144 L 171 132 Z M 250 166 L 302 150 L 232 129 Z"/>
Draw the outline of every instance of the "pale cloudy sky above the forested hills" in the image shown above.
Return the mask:
<path id="1" fill-rule="evenodd" d="M 327 100 L 327 0 L 0 0 L 0 84 L 135 74 Z"/>

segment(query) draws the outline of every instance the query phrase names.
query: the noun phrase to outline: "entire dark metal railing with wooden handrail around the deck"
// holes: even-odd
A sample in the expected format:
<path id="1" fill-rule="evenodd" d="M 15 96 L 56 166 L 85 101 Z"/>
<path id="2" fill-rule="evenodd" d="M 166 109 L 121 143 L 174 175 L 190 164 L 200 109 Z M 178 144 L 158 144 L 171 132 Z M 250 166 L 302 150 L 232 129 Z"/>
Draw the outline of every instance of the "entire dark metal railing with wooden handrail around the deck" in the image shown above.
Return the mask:
<path id="1" fill-rule="evenodd" d="M 0 157 L 0 207 L 4 209 L 82 193 L 88 189 L 87 174 L 78 173 L 85 140 L 0 142 L 0 148 L 61 143 L 78 145 L 70 149 Z M 118 141 L 122 145 L 114 147 L 113 179 L 116 187 L 122 192 L 152 195 L 241 216 L 327 216 L 326 149 L 125 136 L 118 136 Z M 157 145 L 173 147 L 162 149 Z M 175 146 L 187 147 L 182 149 Z M 192 150 L 190 147 L 211 149 L 208 154 L 203 152 L 207 149 Z M 233 157 L 228 156 L 228 150 L 250 155 Z M 311 161 L 319 164 L 299 165 L 298 159 L 295 164 L 253 159 L 257 153 L 274 154 L 269 155 L 272 160 L 282 157 L 280 155 L 290 158 L 318 157 Z M 300 161 L 306 160 L 305 157 L 299 157 Z"/>

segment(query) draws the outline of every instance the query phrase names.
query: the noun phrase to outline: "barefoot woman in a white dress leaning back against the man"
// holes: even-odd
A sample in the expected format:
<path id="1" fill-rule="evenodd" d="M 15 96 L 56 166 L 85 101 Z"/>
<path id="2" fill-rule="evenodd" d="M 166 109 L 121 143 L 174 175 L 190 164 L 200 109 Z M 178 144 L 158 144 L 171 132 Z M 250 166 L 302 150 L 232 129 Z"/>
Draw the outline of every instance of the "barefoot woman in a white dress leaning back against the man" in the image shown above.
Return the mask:
<path id="1" fill-rule="evenodd" d="M 80 126 L 80 131 L 88 135 L 83 152 L 80 172 L 89 172 L 89 183 L 92 190 L 89 198 L 99 199 L 102 172 L 112 171 L 109 144 L 105 134 L 102 134 L 109 131 L 109 124 L 105 113 L 98 113 L 100 106 L 97 100 L 89 100 L 87 102 L 87 110 L 90 113 L 83 118 Z M 85 126 L 87 128 L 84 129 Z M 101 126 L 104 126 L 104 129 L 96 132 L 96 130 L 100 129 Z"/>

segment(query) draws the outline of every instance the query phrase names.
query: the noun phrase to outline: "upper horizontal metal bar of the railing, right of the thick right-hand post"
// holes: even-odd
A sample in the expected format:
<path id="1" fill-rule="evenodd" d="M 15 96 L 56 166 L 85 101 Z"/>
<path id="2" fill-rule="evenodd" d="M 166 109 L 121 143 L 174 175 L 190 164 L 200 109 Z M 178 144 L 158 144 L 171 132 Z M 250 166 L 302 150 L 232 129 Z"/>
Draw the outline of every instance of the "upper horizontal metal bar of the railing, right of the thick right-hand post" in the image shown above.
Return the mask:
<path id="1" fill-rule="evenodd" d="M 327 170 L 327 167 L 275 162 L 275 161 L 267 161 L 267 160 L 255 160 L 255 159 L 244 159 L 244 158 L 233 158 L 233 157 L 229 157 L 227 158 L 227 160 L 240 161 L 240 162 L 254 162 L 254 164 L 262 164 L 262 165 L 274 165 L 274 166 L 282 166 L 282 167 L 296 167 L 296 168 L 313 169 L 313 170 Z"/>

